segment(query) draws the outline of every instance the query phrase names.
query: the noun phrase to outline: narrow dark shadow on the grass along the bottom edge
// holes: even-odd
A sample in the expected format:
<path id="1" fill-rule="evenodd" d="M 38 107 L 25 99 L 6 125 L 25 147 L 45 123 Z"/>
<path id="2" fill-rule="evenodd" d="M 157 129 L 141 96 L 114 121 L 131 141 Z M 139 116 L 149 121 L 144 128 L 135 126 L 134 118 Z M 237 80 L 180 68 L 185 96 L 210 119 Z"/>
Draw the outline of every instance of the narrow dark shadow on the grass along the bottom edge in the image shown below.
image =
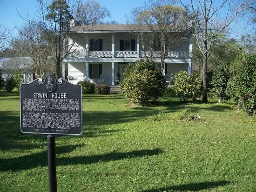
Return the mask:
<path id="1" fill-rule="evenodd" d="M 163 191 L 175 191 L 175 192 L 183 192 L 183 191 L 200 191 L 203 189 L 213 189 L 215 187 L 224 186 L 230 184 L 229 181 L 209 181 L 202 183 L 189 183 L 185 185 L 175 185 L 169 187 L 162 187 L 158 189 L 150 189 L 141 192 L 163 192 Z"/>

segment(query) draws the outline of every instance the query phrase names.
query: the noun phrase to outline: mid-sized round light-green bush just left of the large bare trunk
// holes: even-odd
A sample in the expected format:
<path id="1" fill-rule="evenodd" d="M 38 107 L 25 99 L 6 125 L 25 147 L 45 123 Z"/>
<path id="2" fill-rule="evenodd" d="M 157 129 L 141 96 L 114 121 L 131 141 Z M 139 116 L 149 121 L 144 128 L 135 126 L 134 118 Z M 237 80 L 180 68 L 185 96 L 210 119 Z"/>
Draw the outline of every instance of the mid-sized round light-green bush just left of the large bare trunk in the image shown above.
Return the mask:
<path id="1" fill-rule="evenodd" d="M 185 71 L 180 71 L 175 74 L 175 77 L 171 78 L 173 81 L 173 90 L 177 97 L 184 101 L 193 99 L 200 96 L 201 93 L 201 82 L 196 74 L 189 74 Z"/>

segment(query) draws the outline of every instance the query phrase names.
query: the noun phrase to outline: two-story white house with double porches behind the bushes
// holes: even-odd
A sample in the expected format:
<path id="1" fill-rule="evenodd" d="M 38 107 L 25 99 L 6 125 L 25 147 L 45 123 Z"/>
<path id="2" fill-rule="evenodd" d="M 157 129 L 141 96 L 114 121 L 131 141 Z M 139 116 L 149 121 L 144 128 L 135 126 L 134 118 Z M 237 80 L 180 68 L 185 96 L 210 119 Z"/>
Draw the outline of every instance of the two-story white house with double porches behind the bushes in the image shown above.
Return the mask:
<path id="1" fill-rule="evenodd" d="M 128 30 L 127 25 L 95 25 L 86 33 L 84 27 L 76 27 L 68 32 L 69 43 L 72 43 L 74 36 L 81 35 L 80 43 L 74 43 L 71 50 L 75 50 L 63 60 L 62 74 L 65 74 L 67 65 L 69 81 L 77 83 L 81 80 L 99 82 L 103 76 L 104 84 L 115 85 L 115 77 L 122 79 L 122 72 L 128 63 L 136 62 L 146 56 L 153 57 L 156 61 L 160 59 L 160 52 L 143 50 L 140 39 Z M 149 32 L 150 33 L 150 32 Z M 179 32 L 175 32 L 179 33 Z M 182 40 L 182 45 L 172 46 L 164 60 L 163 73 L 167 79 L 173 73 L 185 70 L 191 73 L 191 33 L 184 33 L 187 38 Z M 65 78 L 65 76 L 63 76 Z"/>

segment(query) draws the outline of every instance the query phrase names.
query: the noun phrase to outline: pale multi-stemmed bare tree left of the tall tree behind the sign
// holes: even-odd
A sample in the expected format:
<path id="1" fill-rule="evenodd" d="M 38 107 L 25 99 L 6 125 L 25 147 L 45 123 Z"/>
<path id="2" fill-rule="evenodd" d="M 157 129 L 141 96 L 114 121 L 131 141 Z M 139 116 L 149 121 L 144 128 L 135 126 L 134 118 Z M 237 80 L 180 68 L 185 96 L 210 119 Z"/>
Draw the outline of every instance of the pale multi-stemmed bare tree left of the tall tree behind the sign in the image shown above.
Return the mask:
<path id="1" fill-rule="evenodd" d="M 48 53 L 51 53 L 52 49 L 45 34 L 40 31 L 40 27 L 42 27 L 40 25 L 42 23 L 37 25 L 27 23 L 27 25 L 19 29 L 18 38 L 12 42 L 12 47 L 16 53 L 30 57 L 33 60 L 32 67 L 35 78 L 44 78 L 45 73 L 54 73 L 56 70 L 56 66 L 53 65 L 52 60 L 48 57 Z"/>

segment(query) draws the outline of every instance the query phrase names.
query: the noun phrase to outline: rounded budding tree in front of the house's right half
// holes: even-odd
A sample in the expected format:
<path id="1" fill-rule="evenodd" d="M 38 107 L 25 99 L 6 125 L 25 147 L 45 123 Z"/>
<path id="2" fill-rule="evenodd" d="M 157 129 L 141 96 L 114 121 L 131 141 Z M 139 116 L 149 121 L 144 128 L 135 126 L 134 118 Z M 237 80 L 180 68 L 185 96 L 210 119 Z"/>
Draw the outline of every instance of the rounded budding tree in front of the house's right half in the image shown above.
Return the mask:
<path id="1" fill-rule="evenodd" d="M 189 39 L 189 28 L 183 18 L 186 18 L 186 12 L 170 5 L 168 0 L 150 0 L 144 7 L 135 8 L 132 17 L 128 18 L 129 29 L 140 38 L 143 54 L 154 60 L 153 51 L 158 51 L 162 70 L 169 51 L 174 46 L 180 46 L 182 50 L 182 41 Z"/>

